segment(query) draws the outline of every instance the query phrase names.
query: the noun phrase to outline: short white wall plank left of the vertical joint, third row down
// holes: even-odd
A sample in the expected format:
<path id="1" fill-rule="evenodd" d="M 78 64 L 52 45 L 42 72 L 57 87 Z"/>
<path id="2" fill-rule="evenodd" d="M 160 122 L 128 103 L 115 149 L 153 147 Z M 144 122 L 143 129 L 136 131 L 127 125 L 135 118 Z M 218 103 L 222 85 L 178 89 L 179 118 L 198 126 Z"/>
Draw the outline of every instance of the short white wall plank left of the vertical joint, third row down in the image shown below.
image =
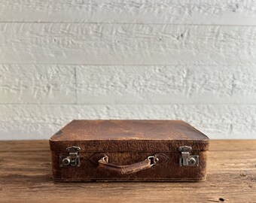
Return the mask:
<path id="1" fill-rule="evenodd" d="M 2 104 L 74 104 L 75 68 L 65 65 L 0 65 Z"/>

